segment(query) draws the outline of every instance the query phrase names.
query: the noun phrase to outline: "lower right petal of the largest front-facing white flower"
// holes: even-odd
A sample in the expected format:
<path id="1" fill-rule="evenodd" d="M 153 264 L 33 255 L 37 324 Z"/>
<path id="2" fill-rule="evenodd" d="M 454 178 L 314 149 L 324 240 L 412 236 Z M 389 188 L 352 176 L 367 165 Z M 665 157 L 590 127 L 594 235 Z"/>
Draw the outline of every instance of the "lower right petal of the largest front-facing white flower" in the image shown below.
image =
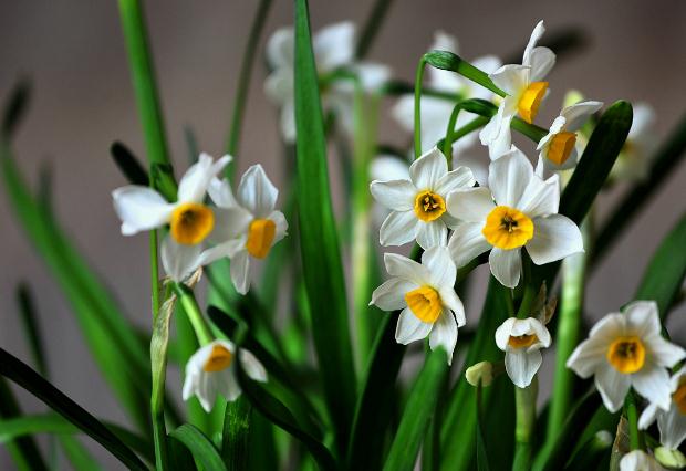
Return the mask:
<path id="1" fill-rule="evenodd" d="M 537 265 L 562 260 L 583 252 L 581 231 L 571 219 L 550 214 L 533 220 L 533 239 L 527 242 L 527 252 Z"/>

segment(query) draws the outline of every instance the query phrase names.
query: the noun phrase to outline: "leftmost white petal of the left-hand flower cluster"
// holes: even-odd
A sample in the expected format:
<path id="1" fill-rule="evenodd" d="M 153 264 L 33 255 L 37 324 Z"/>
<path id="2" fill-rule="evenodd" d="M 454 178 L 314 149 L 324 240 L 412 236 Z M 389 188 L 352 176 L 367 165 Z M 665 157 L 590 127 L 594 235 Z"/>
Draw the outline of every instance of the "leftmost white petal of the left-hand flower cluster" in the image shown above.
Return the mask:
<path id="1" fill-rule="evenodd" d="M 172 218 L 175 205 L 148 187 L 129 185 L 112 191 L 114 210 L 122 220 L 122 233 L 133 236 L 159 228 Z"/>

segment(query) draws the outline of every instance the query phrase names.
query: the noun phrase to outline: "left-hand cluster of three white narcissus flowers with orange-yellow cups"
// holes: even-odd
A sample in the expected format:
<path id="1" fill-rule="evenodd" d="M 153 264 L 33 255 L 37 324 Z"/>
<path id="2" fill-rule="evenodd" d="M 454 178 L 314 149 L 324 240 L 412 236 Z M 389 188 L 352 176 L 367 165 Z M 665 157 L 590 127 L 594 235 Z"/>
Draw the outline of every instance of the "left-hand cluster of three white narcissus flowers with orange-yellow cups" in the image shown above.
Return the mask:
<path id="1" fill-rule="evenodd" d="M 236 291 L 246 294 L 251 259 L 264 259 L 285 236 L 288 222 L 274 209 L 279 191 L 262 166 L 250 167 L 233 195 L 229 181 L 217 177 L 230 161 L 228 155 L 214 161 L 201 154 L 181 177 L 175 202 L 137 185 L 117 188 L 112 196 L 124 236 L 155 229 L 167 232 L 160 258 L 173 282 L 183 283 L 201 266 L 227 257 Z M 207 203 L 208 196 L 214 205 Z M 235 354 L 236 345 L 226 339 L 201 346 L 186 365 L 184 399 L 197 396 L 207 411 L 218 394 L 235 400 L 240 395 Z M 264 367 L 250 352 L 241 348 L 238 358 L 248 376 L 267 380 Z"/>

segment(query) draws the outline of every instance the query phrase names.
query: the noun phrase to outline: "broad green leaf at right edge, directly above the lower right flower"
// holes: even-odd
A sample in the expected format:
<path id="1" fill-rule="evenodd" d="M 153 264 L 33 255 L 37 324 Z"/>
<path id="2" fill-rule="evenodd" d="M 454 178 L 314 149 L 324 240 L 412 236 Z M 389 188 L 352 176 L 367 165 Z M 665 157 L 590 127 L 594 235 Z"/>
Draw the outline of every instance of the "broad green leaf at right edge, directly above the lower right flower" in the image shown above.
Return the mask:
<path id="1" fill-rule="evenodd" d="M 643 274 L 635 300 L 654 300 L 663 322 L 686 275 L 686 213 L 663 239 Z"/>

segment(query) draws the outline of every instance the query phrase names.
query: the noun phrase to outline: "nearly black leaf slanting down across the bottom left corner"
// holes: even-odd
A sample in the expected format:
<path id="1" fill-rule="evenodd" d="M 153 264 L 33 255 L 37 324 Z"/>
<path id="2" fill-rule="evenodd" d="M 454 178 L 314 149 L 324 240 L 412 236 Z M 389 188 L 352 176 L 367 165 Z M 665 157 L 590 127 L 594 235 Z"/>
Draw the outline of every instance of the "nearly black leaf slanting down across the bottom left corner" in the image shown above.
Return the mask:
<path id="1" fill-rule="evenodd" d="M 74 423 L 84 433 L 102 444 L 129 469 L 145 470 L 145 464 L 107 427 L 43 379 L 20 359 L 0 348 L 0 375 L 17 383 L 55 412 Z"/>

